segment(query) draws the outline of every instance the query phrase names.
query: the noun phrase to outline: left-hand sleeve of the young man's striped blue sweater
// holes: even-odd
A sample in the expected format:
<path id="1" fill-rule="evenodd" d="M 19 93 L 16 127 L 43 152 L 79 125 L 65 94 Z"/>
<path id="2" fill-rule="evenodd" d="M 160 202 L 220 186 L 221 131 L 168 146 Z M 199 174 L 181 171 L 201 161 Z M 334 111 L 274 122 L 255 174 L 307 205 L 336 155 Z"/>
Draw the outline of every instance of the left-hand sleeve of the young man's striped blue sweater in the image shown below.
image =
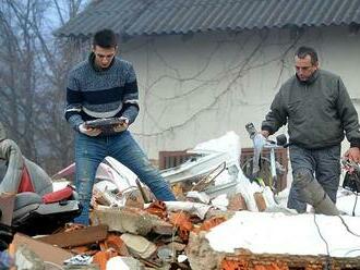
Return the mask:
<path id="1" fill-rule="evenodd" d="M 79 86 L 79 82 L 73 75 L 73 72 L 69 73 L 67 85 L 67 107 L 64 116 L 70 126 L 75 131 L 79 131 L 79 125 L 84 121 L 81 116 L 83 96 Z"/>

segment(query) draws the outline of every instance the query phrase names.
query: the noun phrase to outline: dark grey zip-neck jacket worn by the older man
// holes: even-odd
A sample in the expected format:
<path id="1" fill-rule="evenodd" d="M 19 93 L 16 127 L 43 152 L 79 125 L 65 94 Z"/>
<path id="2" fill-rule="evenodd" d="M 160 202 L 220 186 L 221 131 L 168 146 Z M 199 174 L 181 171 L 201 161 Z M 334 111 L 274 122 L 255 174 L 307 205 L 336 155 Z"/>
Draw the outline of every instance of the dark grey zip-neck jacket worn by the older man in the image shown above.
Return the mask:
<path id="1" fill-rule="evenodd" d="M 308 149 L 338 145 L 346 134 L 360 147 L 358 113 L 341 78 L 317 70 L 307 82 L 296 75 L 279 89 L 262 130 L 274 134 L 288 122 L 290 143 Z"/>

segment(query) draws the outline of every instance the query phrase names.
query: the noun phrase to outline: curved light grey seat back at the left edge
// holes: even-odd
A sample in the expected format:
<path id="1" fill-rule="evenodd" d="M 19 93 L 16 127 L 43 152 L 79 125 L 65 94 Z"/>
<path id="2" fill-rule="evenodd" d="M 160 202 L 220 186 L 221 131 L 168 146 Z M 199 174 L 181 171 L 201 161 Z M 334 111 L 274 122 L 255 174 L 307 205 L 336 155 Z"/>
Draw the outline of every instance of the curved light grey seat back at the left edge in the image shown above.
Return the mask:
<path id="1" fill-rule="evenodd" d="M 0 143 L 0 158 L 7 160 L 7 173 L 0 184 L 0 193 L 17 193 L 24 168 L 24 159 L 19 146 L 11 139 Z"/>

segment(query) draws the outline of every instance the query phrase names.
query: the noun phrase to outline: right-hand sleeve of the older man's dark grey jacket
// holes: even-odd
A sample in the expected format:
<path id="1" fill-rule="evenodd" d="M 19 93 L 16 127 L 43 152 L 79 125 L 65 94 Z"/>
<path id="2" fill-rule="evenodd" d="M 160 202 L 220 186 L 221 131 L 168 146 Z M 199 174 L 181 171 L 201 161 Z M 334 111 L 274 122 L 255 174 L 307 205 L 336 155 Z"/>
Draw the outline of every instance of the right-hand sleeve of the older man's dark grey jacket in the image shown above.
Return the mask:
<path id="1" fill-rule="evenodd" d="M 346 137 L 350 143 L 350 147 L 360 147 L 360 126 L 358 113 L 341 78 L 337 82 L 337 112 L 341 120 Z"/>

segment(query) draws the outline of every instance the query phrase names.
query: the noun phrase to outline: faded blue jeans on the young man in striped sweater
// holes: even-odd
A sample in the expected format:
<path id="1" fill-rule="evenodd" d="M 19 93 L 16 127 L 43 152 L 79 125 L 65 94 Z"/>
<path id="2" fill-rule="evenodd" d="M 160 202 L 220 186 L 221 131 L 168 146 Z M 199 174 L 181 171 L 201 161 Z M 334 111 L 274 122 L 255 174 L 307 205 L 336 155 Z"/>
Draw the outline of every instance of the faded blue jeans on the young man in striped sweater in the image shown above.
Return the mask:
<path id="1" fill-rule="evenodd" d="M 91 137 L 75 135 L 76 191 L 83 210 L 74 222 L 88 224 L 88 209 L 94 186 L 95 173 L 105 157 L 110 156 L 133 171 L 159 200 L 176 200 L 168 184 L 164 181 L 131 136 L 129 131 L 111 136 Z"/>

